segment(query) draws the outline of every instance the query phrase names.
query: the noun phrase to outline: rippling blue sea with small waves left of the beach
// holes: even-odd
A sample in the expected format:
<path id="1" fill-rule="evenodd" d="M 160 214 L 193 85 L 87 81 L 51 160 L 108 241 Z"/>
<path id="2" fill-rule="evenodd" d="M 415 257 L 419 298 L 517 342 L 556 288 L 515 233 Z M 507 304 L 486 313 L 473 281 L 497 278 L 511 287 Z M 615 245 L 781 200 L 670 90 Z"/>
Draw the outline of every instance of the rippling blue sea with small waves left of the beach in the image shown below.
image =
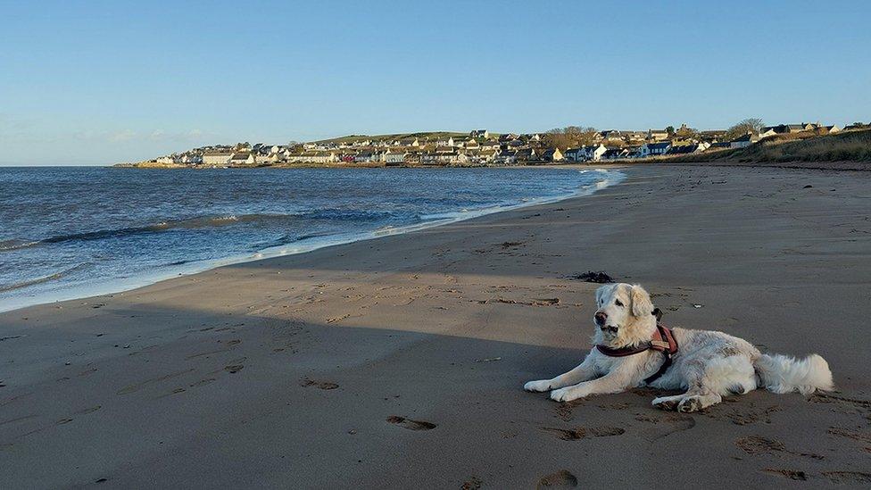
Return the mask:
<path id="1" fill-rule="evenodd" d="M 0 311 L 548 203 L 617 170 L 0 167 Z"/>

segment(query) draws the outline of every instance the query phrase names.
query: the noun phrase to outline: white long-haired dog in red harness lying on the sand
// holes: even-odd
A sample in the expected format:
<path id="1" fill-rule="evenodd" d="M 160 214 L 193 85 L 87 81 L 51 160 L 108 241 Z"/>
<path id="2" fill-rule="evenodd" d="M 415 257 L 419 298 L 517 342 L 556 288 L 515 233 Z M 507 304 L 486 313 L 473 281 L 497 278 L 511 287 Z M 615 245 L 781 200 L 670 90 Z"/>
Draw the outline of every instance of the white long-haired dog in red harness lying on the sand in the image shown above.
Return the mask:
<path id="1" fill-rule="evenodd" d="M 828 363 L 817 354 L 796 360 L 760 353 L 722 332 L 658 327 L 651 297 L 640 286 L 602 286 L 596 304 L 596 345 L 584 362 L 556 378 L 530 381 L 524 389 L 553 390 L 551 398 L 558 402 L 635 386 L 686 390 L 653 400 L 656 407 L 677 411 L 701 410 L 720 403 L 723 395 L 758 386 L 774 393 L 834 389 Z"/>

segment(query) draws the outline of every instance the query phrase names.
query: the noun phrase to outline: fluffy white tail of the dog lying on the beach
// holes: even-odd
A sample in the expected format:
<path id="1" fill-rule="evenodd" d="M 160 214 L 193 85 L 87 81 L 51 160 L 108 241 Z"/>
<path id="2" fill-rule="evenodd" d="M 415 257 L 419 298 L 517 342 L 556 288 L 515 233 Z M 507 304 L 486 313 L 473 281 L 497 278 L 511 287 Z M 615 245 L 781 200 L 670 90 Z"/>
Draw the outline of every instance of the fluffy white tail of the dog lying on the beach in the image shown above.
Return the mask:
<path id="1" fill-rule="evenodd" d="M 816 390 L 833 391 L 834 381 L 829 363 L 817 354 L 796 359 L 783 354 L 762 354 L 753 363 L 759 385 L 772 393 L 811 394 Z"/>

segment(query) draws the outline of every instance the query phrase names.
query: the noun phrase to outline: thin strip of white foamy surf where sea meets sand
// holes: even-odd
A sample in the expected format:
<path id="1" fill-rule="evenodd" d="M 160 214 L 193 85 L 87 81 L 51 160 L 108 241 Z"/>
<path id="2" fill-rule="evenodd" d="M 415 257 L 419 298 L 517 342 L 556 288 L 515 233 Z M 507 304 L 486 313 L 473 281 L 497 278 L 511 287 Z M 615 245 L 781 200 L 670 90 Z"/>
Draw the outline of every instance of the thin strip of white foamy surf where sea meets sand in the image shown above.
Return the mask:
<path id="1" fill-rule="evenodd" d="M 289 168 L 289 167 L 288 167 Z M 567 168 L 567 170 L 575 170 Z M 365 233 L 357 233 L 357 234 L 338 234 L 331 235 L 328 237 L 319 237 L 314 238 L 307 243 L 302 244 L 299 242 L 293 242 L 286 245 L 277 245 L 264 248 L 254 253 L 245 253 L 245 254 L 237 254 L 237 255 L 229 255 L 227 257 L 220 257 L 205 261 L 195 261 L 188 262 L 183 265 L 179 265 L 175 268 L 171 268 L 171 270 L 163 270 L 160 273 L 153 274 L 143 274 L 137 277 L 130 278 L 115 278 L 110 281 L 102 282 L 99 284 L 90 284 L 83 285 L 79 287 L 71 287 L 68 289 L 62 289 L 61 291 L 52 291 L 46 292 L 43 295 L 37 295 L 37 297 L 32 295 L 21 296 L 21 297 L 12 297 L 9 300 L 4 300 L 3 303 L 0 303 L 0 312 L 4 311 L 16 311 L 21 310 L 22 308 L 28 308 L 29 306 L 37 306 L 40 304 L 50 304 L 50 303 L 60 303 L 64 301 L 74 301 L 74 300 L 83 300 L 94 296 L 100 295 L 117 295 L 120 293 L 125 293 L 128 291 L 132 291 L 138 289 L 140 287 L 147 287 L 153 284 L 162 282 L 164 280 L 169 280 L 171 278 L 178 277 L 186 277 L 195 274 L 199 274 L 202 272 L 206 272 L 209 270 L 214 270 L 220 267 L 226 267 L 228 265 L 234 265 L 238 263 L 245 262 L 255 262 L 261 260 L 268 260 L 270 258 L 281 257 L 286 255 L 295 255 L 298 253 L 309 253 L 314 250 L 319 250 L 321 248 L 328 248 L 336 245 L 347 245 L 353 244 L 356 242 L 364 242 L 368 240 L 374 240 L 377 238 L 390 237 L 394 235 L 402 235 L 406 233 L 413 233 L 415 231 L 419 231 L 427 228 L 435 228 L 439 226 L 444 226 L 447 224 L 457 223 L 464 220 L 474 220 L 481 216 L 487 216 L 494 213 L 499 212 L 510 212 L 518 209 L 523 209 L 526 207 L 531 207 L 539 204 L 547 204 L 547 203 L 558 203 L 560 201 L 564 201 L 567 199 L 573 199 L 577 197 L 583 197 L 585 195 L 592 195 L 594 192 L 601 190 L 602 188 L 610 187 L 618 185 L 624 179 L 626 179 L 626 175 L 620 172 L 617 169 L 602 169 L 602 168 L 590 168 L 590 169 L 577 169 L 582 172 L 593 171 L 593 172 L 601 172 L 609 174 L 609 177 L 603 181 L 600 181 L 596 184 L 586 185 L 583 187 L 579 187 L 576 192 L 569 195 L 559 195 L 552 197 L 540 197 L 534 199 L 528 199 L 526 202 L 513 204 L 513 205 L 494 205 L 488 208 L 483 208 L 477 211 L 468 212 L 468 214 L 462 214 L 462 211 L 452 212 L 455 216 L 447 217 L 444 219 L 431 220 L 423 223 L 415 223 L 411 225 L 406 225 L 402 227 L 391 227 L 391 228 L 377 228 L 375 230 L 371 230 Z M 603 182 L 603 185 L 602 185 Z M 323 238 L 323 239 L 321 239 Z M 327 239 L 329 238 L 329 239 Z M 49 280 L 49 278 L 38 278 L 35 281 L 31 281 L 31 284 L 38 284 Z M 14 286 L 14 285 L 13 285 Z M 2 291 L 0 291 L 2 292 Z"/>

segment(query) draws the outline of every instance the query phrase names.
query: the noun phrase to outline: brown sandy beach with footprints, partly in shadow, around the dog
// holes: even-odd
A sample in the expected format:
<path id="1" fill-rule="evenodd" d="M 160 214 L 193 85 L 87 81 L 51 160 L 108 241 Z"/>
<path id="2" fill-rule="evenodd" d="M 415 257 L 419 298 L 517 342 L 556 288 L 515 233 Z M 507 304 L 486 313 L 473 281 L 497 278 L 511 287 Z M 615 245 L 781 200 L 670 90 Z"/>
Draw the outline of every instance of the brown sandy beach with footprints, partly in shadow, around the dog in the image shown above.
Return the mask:
<path id="1" fill-rule="evenodd" d="M 0 313 L 0 487 L 871 484 L 867 172 L 639 165 L 595 195 Z M 833 394 L 555 403 L 603 270 Z M 807 480 L 807 481 L 800 481 Z"/>

